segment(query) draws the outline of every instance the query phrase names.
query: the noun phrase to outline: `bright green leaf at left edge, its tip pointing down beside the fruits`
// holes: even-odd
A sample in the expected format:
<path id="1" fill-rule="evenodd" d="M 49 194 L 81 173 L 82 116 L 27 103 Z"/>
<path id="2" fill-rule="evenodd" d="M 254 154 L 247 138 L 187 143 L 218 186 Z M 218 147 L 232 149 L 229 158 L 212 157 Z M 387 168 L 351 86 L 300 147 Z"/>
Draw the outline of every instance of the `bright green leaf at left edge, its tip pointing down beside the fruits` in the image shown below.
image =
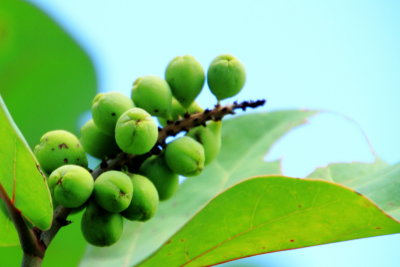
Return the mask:
<path id="1" fill-rule="evenodd" d="M 39 165 L 23 136 L 14 124 L 0 96 L 0 185 L 11 199 L 12 204 L 21 211 L 24 218 L 39 229 L 50 227 L 53 217 L 53 207 L 46 177 L 39 171 Z M 4 212 L 1 212 L 4 215 Z M 10 242 L 9 219 L 0 216 L 0 244 Z M 10 239 L 8 239 L 10 238 Z M 8 241 L 7 241 L 8 240 Z"/>

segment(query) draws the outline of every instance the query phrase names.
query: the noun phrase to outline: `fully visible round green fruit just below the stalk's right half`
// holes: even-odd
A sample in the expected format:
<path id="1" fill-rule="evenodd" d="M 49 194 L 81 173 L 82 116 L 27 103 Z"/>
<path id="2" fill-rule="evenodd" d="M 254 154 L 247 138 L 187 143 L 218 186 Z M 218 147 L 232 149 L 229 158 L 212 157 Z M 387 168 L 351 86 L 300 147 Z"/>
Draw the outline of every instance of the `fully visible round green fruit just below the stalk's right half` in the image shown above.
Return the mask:
<path id="1" fill-rule="evenodd" d="M 198 175 L 204 168 L 204 158 L 203 146 L 188 136 L 175 139 L 165 150 L 168 167 L 184 176 Z"/>

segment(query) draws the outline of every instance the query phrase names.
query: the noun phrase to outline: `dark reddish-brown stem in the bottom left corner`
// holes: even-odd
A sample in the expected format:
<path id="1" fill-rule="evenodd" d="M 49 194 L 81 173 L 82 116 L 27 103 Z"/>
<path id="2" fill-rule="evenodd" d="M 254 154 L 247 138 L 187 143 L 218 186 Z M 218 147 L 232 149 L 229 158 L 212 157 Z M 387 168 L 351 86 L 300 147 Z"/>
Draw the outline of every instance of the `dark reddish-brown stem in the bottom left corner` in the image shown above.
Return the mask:
<path id="1" fill-rule="evenodd" d="M 18 232 L 19 242 L 24 252 L 22 266 L 36 267 L 40 266 L 45 253 L 45 247 L 39 242 L 38 236 L 34 229 L 31 229 L 26 224 L 22 217 L 21 211 L 18 210 L 12 203 L 10 197 L 7 195 L 6 190 L 0 184 L 0 198 L 3 199 L 7 207 L 8 214 L 10 215 L 14 226 Z"/>

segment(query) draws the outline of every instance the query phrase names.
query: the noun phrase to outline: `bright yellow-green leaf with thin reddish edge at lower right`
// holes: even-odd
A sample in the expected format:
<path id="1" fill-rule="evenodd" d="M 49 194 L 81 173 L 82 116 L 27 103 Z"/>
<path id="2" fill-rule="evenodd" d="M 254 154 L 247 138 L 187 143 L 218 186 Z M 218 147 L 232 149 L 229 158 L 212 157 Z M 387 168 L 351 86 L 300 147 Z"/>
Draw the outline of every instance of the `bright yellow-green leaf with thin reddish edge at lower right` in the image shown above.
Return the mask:
<path id="1" fill-rule="evenodd" d="M 261 253 L 399 232 L 399 222 L 340 185 L 258 177 L 217 196 L 138 266 L 209 266 Z"/>

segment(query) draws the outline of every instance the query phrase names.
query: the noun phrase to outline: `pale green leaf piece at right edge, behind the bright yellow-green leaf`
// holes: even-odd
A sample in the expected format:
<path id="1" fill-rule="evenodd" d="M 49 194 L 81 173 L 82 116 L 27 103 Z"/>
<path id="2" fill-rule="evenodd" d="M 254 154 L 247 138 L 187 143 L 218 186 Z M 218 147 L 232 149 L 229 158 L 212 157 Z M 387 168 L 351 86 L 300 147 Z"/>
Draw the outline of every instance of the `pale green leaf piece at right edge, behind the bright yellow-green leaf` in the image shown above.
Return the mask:
<path id="1" fill-rule="evenodd" d="M 318 168 L 308 177 L 325 179 L 355 189 L 400 220 L 400 164 L 337 163 Z"/>

